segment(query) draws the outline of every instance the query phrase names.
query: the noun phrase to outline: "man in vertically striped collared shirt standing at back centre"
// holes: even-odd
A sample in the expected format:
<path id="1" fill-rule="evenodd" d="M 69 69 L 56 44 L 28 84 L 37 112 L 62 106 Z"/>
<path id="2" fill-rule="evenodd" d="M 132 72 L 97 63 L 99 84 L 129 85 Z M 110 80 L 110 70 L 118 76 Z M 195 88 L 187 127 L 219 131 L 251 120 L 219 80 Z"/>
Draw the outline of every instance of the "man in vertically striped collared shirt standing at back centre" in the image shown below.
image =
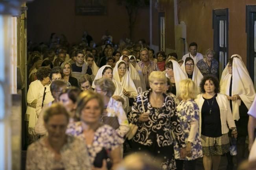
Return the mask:
<path id="1" fill-rule="evenodd" d="M 157 63 L 149 60 L 148 50 L 145 48 L 140 50 L 140 59 L 141 61 L 138 62 L 138 65 L 142 70 L 142 73 L 145 79 L 146 88 L 148 90 L 150 88 L 149 80 L 148 80 L 149 74 L 153 71 L 160 71 L 160 69 L 158 68 Z"/>

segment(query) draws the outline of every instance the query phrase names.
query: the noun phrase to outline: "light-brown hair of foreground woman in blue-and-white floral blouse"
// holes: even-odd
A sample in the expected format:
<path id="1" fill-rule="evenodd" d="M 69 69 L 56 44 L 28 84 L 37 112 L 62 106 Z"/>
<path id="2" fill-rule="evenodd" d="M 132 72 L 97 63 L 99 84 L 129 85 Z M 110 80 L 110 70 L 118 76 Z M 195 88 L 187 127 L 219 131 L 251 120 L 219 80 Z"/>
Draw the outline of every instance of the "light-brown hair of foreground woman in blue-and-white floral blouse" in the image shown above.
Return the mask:
<path id="1" fill-rule="evenodd" d="M 77 98 L 77 109 L 76 109 L 77 118 L 81 117 L 81 112 L 83 108 L 87 105 L 88 101 L 92 99 L 96 99 L 98 101 L 100 112 L 101 114 L 103 113 L 104 103 L 103 103 L 102 97 L 96 92 L 93 92 L 91 90 L 86 90 L 84 92 L 81 92 Z"/>

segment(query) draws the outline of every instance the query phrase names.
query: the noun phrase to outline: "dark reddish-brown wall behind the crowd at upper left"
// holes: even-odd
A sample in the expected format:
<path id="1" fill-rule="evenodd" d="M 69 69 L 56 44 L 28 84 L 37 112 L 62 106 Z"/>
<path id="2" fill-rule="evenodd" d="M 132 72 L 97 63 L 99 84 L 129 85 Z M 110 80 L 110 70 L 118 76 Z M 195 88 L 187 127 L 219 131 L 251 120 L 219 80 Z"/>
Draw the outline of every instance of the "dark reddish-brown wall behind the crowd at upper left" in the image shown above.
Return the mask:
<path id="1" fill-rule="evenodd" d="M 107 15 L 76 16 L 75 0 L 35 0 L 28 3 L 28 40 L 48 42 L 51 33 L 65 34 L 70 43 L 81 40 L 88 31 L 94 41 L 109 29 L 114 42 L 123 34 L 129 36 L 128 14 L 116 0 L 108 0 Z M 140 8 L 134 26 L 133 40 L 144 38 L 149 42 L 149 7 Z"/>

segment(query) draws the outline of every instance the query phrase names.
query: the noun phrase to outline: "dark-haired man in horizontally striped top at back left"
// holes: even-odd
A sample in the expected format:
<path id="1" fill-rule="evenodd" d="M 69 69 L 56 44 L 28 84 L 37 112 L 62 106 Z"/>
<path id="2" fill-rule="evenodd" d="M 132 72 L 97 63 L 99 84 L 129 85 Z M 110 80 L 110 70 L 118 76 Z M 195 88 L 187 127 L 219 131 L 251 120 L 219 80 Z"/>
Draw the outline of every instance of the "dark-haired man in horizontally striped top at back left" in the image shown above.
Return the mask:
<path id="1" fill-rule="evenodd" d="M 72 76 L 77 79 L 78 87 L 81 89 L 80 77 L 84 74 L 89 74 L 92 76 L 92 69 L 88 67 L 88 64 L 85 63 L 85 54 L 83 51 L 77 50 L 75 52 L 76 63 L 72 64 Z"/>

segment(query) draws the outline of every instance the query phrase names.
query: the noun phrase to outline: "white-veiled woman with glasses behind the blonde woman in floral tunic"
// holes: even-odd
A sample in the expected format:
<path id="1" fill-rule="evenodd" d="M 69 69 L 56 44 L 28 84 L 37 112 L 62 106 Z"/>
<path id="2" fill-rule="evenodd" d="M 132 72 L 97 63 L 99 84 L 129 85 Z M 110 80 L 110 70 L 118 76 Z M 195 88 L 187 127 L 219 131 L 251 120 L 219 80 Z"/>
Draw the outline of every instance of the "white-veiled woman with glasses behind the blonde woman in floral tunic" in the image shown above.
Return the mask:
<path id="1" fill-rule="evenodd" d="M 190 57 L 186 58 L 184 63 L 181 65 L 181 69 L 185 73 L 187 78 L 194 81 L 195 85 L 199 87 L 203 75 L 201 71 L 198 69 L 197 65 L 194 63 L 194 60 Z"/>

